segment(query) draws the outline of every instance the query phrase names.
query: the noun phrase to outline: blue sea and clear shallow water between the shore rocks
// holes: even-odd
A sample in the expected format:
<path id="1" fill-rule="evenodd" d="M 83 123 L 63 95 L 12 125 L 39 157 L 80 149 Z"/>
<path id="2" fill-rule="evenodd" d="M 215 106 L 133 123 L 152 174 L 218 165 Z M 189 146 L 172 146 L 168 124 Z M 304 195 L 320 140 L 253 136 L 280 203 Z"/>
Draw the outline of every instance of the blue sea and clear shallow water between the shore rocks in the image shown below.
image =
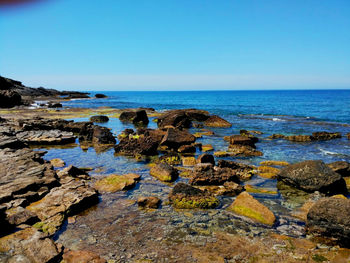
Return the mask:
<path id="1" fill-rule="evenodd" d="M 173 108 L 198 108 L 229 120 L 232 128 L 210 128 L 215 135 L 203 136 L 197 142 L 212 144 L 215 151 L 226 150 L 223 136 L 238 134 L 240 129 L 259 130 L 257 149 L 262 157 L 224 158 L 258 165 L 263 160 L 284 160 L 290 163 L 302 160 L 350 161 L 350 141 L 343 136 L 324 142 L 293 143 L 286 140 L 268 140 L 273 133 L 311 134 L 315 131 L 350 132 L 350 91 L 266 91 L 266 92 L 114 92 L 105 94 L 108 99 L 75 100 L 65 102 L 65 107 L 115 108 L 153 107 L 156 110 Z M 152 119 L 152 118 L 151 118 Z M 76 119 L 82 121 L 86 119 Z M 345 125 L 344 125 L 345 124 Z M 104 126 L 119 134 L 125 125 L 111 118 Z M 150 121 L 150 128 L 156 124 Z M 191 132 L 199 129 L 191 129 Z M 197 152 L 197 155 L 200 152 Z M 96 153 L 93 148 L 83 151 L 48 149 L 45 158 L 61 158 L 67 165 L 92 167 L 92 177 L 111 173 L 138 173 L 142 180 L 127 192 L 101 195 L 101 202 L 82 213 L 75 222 L 66 222 L 55 239 L 71 249 L 89 249 L 110 259 L 131 261 L 135 258 L 157 258 L 162 249 L 170 249 L 177 242 L 204 244 L 215 231 L 259 236 L 276 232 L 303 237 L 303 222 L 290 214 L 309 195 L 295 198 L 293 194 L 279 191 L 276 180 L 254 176 L 247 183 L 277 191 L 277 194 L 252 194 L 276 215 L 277 223 L 265 227 L 239 218 L 225 210 L 234 198 L 220 197 L 221 206 L 207 211 L 179 211 L 167 205 L 167 196 L 174 184 L 159 182 L 149 175 L 145 161 L 114 156 L 110 149 Z M 187 181 L 179 178 L 179 181 Z M 156 211 L 140 210 L 135 201 L 140 196 L 154 195 L 163 205 Z M 157 248 L 157 249 L 155 249 Z M 157 252 L 158 251 L 158 252 Z"/>

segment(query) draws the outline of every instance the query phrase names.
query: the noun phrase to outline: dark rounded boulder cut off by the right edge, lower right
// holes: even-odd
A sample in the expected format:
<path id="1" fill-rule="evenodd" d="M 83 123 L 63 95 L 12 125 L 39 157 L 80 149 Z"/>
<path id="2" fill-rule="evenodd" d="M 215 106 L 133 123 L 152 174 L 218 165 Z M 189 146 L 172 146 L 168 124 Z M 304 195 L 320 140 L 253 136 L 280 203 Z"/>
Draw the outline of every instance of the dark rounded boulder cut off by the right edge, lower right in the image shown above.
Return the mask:
<path id="1" fill-rule="evenodd" d="M 306 230 L 350 247 L 350 200 L 330 197 L 317 201 L 307 214 Z"/>

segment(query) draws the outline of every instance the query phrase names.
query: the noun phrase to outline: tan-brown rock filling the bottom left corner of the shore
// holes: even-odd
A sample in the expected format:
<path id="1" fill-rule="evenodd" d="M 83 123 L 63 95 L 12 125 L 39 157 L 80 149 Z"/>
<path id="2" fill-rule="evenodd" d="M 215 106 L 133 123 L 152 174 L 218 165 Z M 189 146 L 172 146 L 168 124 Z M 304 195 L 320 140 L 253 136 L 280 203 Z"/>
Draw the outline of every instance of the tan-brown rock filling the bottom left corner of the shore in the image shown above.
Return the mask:
<path id="1" fill-rule="evenodd" d="M 30 227 L 1 238 L 0 251 L 9 254 L 6 262 L 45 263 L 58 262 L 62 247 Z"/>

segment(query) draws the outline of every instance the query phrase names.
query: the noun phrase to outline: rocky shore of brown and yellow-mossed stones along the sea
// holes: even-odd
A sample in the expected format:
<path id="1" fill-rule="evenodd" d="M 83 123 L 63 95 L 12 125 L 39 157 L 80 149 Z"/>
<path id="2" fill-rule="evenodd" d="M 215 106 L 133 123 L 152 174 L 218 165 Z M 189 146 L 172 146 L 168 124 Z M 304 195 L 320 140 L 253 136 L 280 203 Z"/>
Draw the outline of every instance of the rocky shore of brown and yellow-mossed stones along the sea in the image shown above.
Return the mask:
<path id="1" fill-rule="evenodd" d="M 255 262 L 330 262 L 333 259 L 338 260 L 334 262 L 349 262 L 348 162 L 326 164 L 320 160 L 307 160 L 289 164 L 284 160 L 269 160 L 255 166 L 240 159 L 263 156 L 264 152 L 259 148 L 261 140 L 286 139 L 305 143 L 335 140 L 342 134 L 320 131 L 310 136 L 273 134 L 265 138 L 259 131 L 241 130 L 239 134 L 218 137 L 217 140 L 226 143 L 227 148 L 215 151 L 216 145 L 198 143 L 198 138 L 213 136 L 215 133 L 211 129 L 228 129 L 232 124 L 204 110 L 101 109 L 94 114 L 76 110 L 74 114 L 89 118 L 89 121 L 76 122 L 64 119 L 67 116 L 64 109 L 59 113 L 46 111 L 49 104 L 42 105 L 47 115 L 41 117 L 38 117 L 37 109 L 26 108 L 34 100 L 43 98 L 59 103 L 78 97 L 87 98 L 87 94 L 27 88 L 18 81 L 0 77 L 0 105 L 7 110 L 0 116 L 0 262 L 158 262 L 164 258 L 164 262 L 208 262 L 209 258 L 213 258 L 211 262 L 251 262 L 251 257 L 256 258 Z M 98 94 L 96 98 L 104 96 Z M 58 104 L 54 106 L 59 107 Z M 27 115 L 18 114 L 21 107 Z M 15 110 L 17 114 L 14 114 Z M 119 118 L 128 128 L 114 134 L 103 126 L 112 118 Z M 148 127 L 152 121 L 156 123 L 153 129 Z M 191 127 L 199 131 L 191 133 Z M 132 169 L 126 169 L 123 174 L 91 176 L 92 169 L 78 168 L 74 164 L 67 166 L 57 158 L 46 160 L 46 151 L 38 150 L 45 147 L 80 147 L 84 151 L 94 149 L 96 153 L 112 151 L 116 157 L 142 162 L 147 176 Z M 300 220 L 296 221 L 299 226 L 294 231 L 299 233 L 301 229 L 299 236 L 289 232 L 292 229 L 288 228 L 289 221 L 276 213 L 271 203 L 256 196 L 277 193 L 250 185 L 253 177 L 277 183 L 285 199 L 293 195 L 301 198 L 300 205 L 293 211 L 288 210 L 286 217 L 289 221 Z M 221 222 L 218 225 L 232 221 L 236 229 L 229 232 L 216 226 L 214 232 L 204 235 L 203 245 L 198 246 L 197 241 L 189 239 L 194 238 L 195 234 L 191 234 L 194 230 L 184 226 L 181 231 L 190 232 L 185 235 L 186 241 L 178 238 L 181 242 L 173 243 L 169 239 L 169 242 L 158 242 L 157 248 L 157 241 L 149 238 L 148 246 L 156 254 L 150 254 L 144 243 L 147 234 L 138 231 L 132 236 L 134 243 L 130 246 L 147 251 L 147 255 L 134 251 L 125 257 L 104 254 L 102 247 L 97 249 L 98 245 L 95 245 L 95 253 L 94 249 L 74 249 L 57 240 L 67 222 L 74 223 L 86 213 L 94 214 L 94 209 L 99 211 L 98 204 L 104 205 L 105 200 L 109 200 L 108 212 L 96 212 L 94 217 L 109 220 L 108 224 L 98 227 L 106 227 L 103 238 L 112 242 L 108 228 L 115 229 L 111 222 L 117 220 L 117 212 L 130 206 L 128 197 L 118 199 L 118 194 L 137 190 L 143 182 L 165 185 L 168 189 L 166 198 L 161 191 L 154 190 L 156 188 L 152 188 L 153 192 L 142 192 L 143 188 L 140 188 L 138 191 L 143 195 L 134 202 L 137 209 L 131 208 L 130 213 L 122 216 L 121 222 L 130 218 L 136 220 L 140 213 L 145 213 L 149 222 L 142 222 L 142 226 L 151 235 L 155 229 L 159 233 L 166 232 L 164 218 L 169 220 L 174 211 L 192 221 L 197 220 L 194 217 L 198 211 L 204 215 L 213 213 L 207 221 L 201 219 L 204 215 L 198 217 L 198 221 L 202 220 L 202 225 L 206 225 L 204 229 L 215 220 Z M 119 200 L 117 207 L 113 207 L 115 200 Z M 156 219 L 164 213 L 162 219 Z M 132 230 L 129 223 L 124 227 Z M 251 235 L 256 228 L 267 229 L 269 234 Z M 118 228 L 121 232 L 117 233 L 118 237 L 113 237 L 122 243 L 115 242 L 118 246 L 127 246 L 130 242 L 123 239 L 124 230 Z M 82 228 L 77 229 L 77 235 L 82 231 Z M 157 238 L 163 240 L 163 237 Z M 175 236 L 171 238 L 175 239 Z M 138 246 L 139 243 L 143 245 Z M 267 253 L 271 247 L 272 252 Z M 178 255 L 179 251 L 184 254 Z"/>

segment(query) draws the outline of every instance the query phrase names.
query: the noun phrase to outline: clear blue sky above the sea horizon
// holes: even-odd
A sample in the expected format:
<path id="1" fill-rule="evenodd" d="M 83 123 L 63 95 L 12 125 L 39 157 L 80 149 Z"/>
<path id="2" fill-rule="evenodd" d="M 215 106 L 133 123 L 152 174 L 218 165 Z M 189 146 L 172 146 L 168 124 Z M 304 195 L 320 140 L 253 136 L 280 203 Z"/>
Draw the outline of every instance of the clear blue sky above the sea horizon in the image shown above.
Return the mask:
<path id="1" fill-rule="evenodd" d="M 350 88 L 350 1 L 2 7 L 0 75 L 73 90 Z"/>

